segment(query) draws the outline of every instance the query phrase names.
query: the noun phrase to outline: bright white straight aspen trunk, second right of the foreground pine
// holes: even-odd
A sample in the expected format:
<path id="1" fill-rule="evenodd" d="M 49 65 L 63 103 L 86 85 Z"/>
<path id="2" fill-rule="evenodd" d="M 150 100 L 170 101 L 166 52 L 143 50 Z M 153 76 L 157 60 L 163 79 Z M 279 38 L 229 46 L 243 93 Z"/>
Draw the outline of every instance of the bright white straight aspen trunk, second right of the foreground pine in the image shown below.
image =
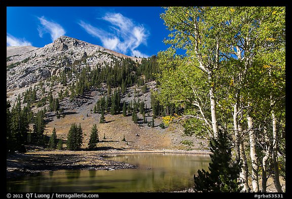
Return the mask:
<path id="1" fill-rule="evenodd" d="M 259 166 L 257 151 L 255 151 L 255 136 L 253 130 L 253 121 L 250 115 L 247 115 L 247 125 L 249 134 L 249 145 L 250 145 L 250 158 L 251 158 L 251 178 L 252 178 L 252 190 L 253 192 L 259 192 Z"/>

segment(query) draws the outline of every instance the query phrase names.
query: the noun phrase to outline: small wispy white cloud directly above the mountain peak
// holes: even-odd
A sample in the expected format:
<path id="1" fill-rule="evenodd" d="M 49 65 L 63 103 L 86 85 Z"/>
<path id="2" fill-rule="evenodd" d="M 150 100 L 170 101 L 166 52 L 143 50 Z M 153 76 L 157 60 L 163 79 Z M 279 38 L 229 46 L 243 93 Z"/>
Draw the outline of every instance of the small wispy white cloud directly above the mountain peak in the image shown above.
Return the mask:
<path id="1" fill-rule="evenodd" d="M 38 19 L 42 24 L 38 28 L 40 37 L 43 37 L 44 33 L 50 33 L 52 41 L 55 41 L 56 38 L 66 33 L 66 31 L 60 24 L 49 21 L 44 16 L 38 17 Z"/>

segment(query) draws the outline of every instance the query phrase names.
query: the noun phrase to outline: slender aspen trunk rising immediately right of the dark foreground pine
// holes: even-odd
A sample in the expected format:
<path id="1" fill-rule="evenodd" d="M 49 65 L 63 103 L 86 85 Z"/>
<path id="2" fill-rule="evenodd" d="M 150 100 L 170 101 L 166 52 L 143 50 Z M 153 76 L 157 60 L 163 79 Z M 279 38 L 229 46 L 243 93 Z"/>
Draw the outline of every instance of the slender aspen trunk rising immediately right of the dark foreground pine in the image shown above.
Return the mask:
<path id="1" fill-rule="evenodd" d="M 243 181 L 242 191 L 247 192 L 250 189 L 248 185 L 248 166 L 247 166 L 247 161 L 246 161 L 246 156 L 245 156 L 245 151 L 244 151 L 244 139 L 242 139 L 242 127 L 240 124 L 238 124 L 238 132 L 241 137 L 240 145 L 239 145 L 240 159 L 242 161 L 240 179 Z"/>

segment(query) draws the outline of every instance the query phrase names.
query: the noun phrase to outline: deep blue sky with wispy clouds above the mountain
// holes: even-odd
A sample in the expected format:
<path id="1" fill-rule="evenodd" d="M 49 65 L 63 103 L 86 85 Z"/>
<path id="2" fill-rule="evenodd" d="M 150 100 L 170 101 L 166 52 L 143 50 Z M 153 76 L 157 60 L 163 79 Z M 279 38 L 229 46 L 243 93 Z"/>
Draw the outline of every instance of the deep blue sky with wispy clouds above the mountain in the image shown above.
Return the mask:
<path id="1" fill-rule="evenodd" d="M 7 7 L 7 46 L 44 47 L 61 35 L 129 56 L 168 48 L 161 7 Z"/>

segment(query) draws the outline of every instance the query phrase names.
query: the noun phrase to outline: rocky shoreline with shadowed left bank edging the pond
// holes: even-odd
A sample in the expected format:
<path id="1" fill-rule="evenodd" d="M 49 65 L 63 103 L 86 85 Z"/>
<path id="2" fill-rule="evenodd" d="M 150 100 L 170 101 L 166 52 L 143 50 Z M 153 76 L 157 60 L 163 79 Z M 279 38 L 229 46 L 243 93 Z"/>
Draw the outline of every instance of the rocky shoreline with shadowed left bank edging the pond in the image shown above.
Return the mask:
<path id="1" fill-rule="evenodd" d="M 15 178 L 55 170 L 116 170 L 137 168 L 135 165 L 110 161 L 103 157 L 104 155 L 126 153 L 209 154 L 210 152 L 184 150 L 30 151 L 7 155 L 6 177 Z"/>

